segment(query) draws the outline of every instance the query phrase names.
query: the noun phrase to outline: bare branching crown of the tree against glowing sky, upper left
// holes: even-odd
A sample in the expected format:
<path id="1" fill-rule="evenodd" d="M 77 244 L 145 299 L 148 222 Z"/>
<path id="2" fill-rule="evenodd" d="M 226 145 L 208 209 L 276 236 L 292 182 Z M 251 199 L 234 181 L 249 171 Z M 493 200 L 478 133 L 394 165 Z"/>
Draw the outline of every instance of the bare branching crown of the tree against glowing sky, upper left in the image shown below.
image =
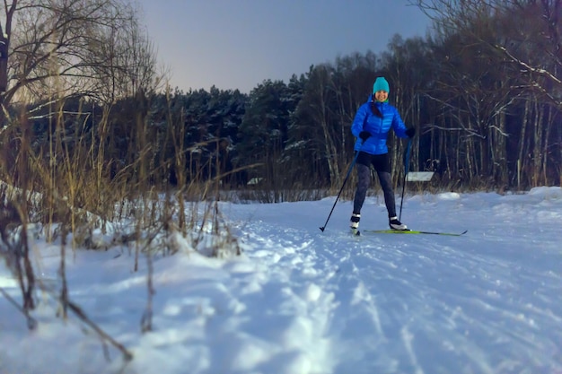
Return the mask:
<path id="1" fill-rule="evenodd" d="M 101 100 L 149 91 L 154 49 L 127 0 L 4 1 L 0 105 L 64 97 Z"/>

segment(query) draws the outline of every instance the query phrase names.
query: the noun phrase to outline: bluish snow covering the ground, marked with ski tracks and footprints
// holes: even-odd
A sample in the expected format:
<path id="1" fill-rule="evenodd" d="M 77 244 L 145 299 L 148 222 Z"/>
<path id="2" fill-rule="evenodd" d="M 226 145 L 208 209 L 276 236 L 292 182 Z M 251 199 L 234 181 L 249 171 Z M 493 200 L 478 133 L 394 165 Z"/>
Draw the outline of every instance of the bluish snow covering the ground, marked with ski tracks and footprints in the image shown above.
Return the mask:
<path id="1" fill-rule="evenodd" d="M 34 330 L 0 293 L 0 373 L 562 373 L 562 189 L 406 196 L 402 221 L 437 235 L 347 234 L 352 203 L 221 203 L 240 257 L 187 241 L 147 262 L 127 247 L 67 254 L 70 299 L 134 356 L 38 293 Z M 400 206 L 400 196 L 397 197 Z M 385 229 L 382 196 L 361 227 Z M 57 287 L 60 246 L 36 239 Z M 0 287 L 21 295 L 0 265 Z"/>

